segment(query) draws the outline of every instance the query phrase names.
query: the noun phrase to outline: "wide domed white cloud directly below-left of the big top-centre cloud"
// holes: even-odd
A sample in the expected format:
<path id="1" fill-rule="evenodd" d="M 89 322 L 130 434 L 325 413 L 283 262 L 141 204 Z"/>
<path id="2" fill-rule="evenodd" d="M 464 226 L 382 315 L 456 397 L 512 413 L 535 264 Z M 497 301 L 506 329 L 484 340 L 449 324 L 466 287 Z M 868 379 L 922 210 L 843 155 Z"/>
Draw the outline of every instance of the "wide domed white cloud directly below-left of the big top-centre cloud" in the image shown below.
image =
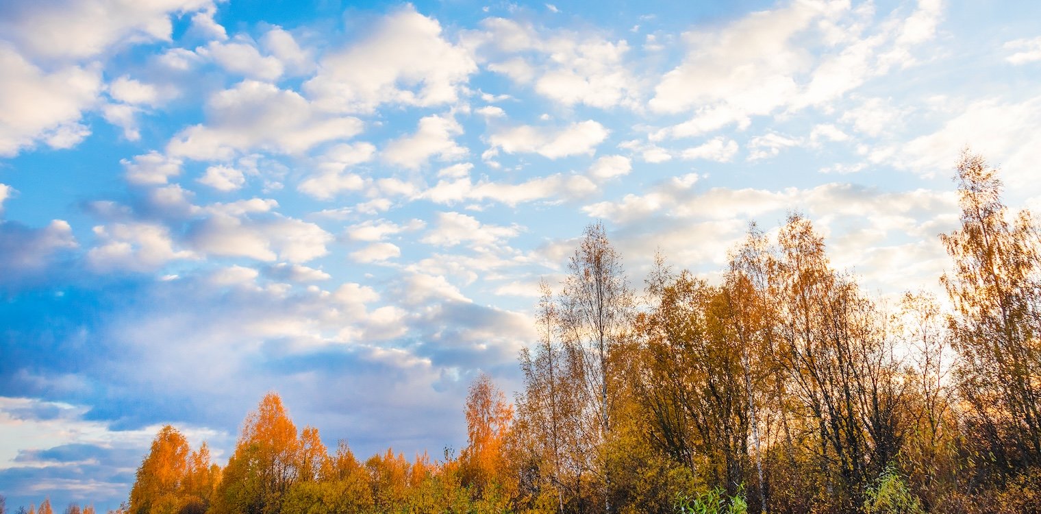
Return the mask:
<path id="1" fill-rule="evenodd" d="M 357 118 L 330 117 L 294 91 L 244 80 L 213 95 L 206 104 L 207 125 L 181 130 L 167 153 L 196 161 L 230 160 L 256 148 L 300 153 L 361 131 Z"/>

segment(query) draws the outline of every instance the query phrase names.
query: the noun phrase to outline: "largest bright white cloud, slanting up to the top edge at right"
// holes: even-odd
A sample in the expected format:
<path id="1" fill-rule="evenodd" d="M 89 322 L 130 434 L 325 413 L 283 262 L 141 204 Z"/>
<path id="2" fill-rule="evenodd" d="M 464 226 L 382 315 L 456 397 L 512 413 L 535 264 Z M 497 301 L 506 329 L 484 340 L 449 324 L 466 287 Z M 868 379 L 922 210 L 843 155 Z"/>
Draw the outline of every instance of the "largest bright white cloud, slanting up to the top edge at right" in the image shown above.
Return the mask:
<path id="1" fill-rule="evenodd" d="M 870 7 L 806 1 L 687 32 L 684 62 L 661 77 L 648 104 L 658 113 L 692 117 L 654 138 L 744 129 L 754 117 L 807 106 L 830 109 L 869 78 L 916 64 L 913 50 L 935 36 L 941 15 L 940 3 L 926 0 L 907 18 L 896 10 L 872 26 Z M 820 45 L 806 45 L 807 34 Z"/>

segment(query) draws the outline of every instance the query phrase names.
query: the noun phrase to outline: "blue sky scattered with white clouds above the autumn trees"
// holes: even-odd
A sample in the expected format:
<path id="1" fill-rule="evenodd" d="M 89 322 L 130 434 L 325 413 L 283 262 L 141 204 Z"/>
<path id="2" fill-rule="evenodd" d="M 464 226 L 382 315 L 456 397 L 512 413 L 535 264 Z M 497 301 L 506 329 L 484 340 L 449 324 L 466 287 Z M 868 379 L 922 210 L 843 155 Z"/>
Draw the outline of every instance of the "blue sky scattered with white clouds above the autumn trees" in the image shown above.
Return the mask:
<path id="1" fill-rule="evenodd" d="M 672 3 L 672 5 L 668 5 Z M 357 455 L 465 443 L 602 221 L 718 278 L 789 212 L 939 291 L 954 165 L 1041 206 L 1041 3 L 0 2 L 0 494 L 115 508 L 263 394 Z"/>

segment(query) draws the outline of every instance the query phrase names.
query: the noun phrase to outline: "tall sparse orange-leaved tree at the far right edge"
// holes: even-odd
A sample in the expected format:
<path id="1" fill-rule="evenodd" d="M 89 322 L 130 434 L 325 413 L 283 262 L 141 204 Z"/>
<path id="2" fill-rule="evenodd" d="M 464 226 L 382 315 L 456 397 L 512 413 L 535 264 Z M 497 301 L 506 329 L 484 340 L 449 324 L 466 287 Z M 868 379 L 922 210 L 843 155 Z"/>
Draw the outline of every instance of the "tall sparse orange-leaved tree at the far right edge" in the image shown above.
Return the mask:
<path id="1" fill-rule="evenodd" d="M 960 392 L 999 469 L 1041 465 L 1038 231 L 1029 211 L 1009 219 L 997 170 L 981 155 L 963 151 L 955 179 L 961 226 L 940 240 L 954 261 L 941 282 Z"/>

